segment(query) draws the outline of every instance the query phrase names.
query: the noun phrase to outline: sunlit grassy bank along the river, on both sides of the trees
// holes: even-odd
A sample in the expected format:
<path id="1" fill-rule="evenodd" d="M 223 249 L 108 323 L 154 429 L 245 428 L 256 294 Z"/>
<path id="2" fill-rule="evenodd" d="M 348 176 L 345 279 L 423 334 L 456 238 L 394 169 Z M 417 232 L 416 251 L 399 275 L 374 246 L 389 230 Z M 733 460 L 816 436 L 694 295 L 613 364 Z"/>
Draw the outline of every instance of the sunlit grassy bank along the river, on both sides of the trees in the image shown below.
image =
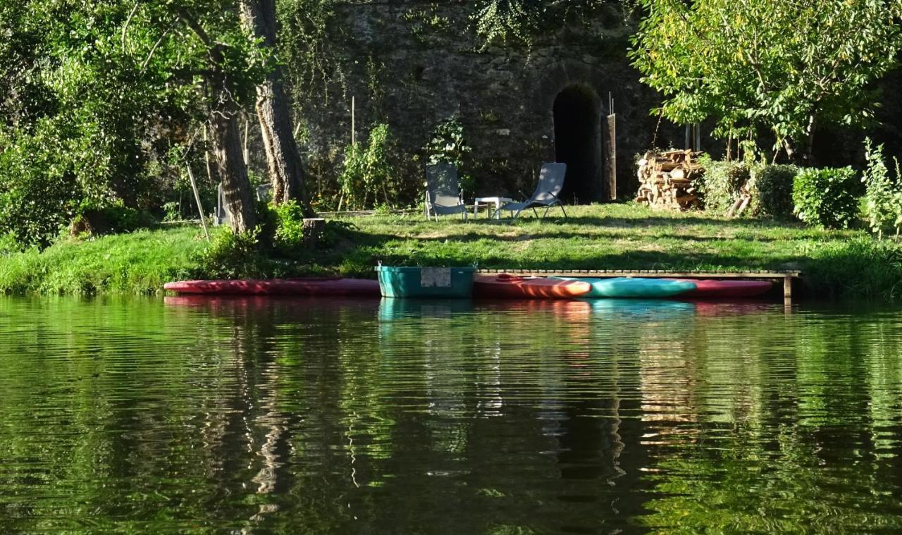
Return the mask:
<path id="1" fill-rule="evenodd" d="M 300 261 L 266 259 L 257 275 L 373 277 L 373 265 L 467 265 L 532 269 L 799 269 L 818 295 L 897 298 L 902 254 L 863 231 L 726 220 L 635 205 L 568 208 L 569 218 L 513 225 L 484 218 L 427 222 L 421 216 L 336 220 L 318 251 Z M 555 214 L 559 216 L 559 211 Z M 484 217 L 484 216 L 483 216 Z M 168 280 L 214 277 L 193 227 L 61 242 L 39 254 L 0 257 L 0 290 L 146 292 Z"/>

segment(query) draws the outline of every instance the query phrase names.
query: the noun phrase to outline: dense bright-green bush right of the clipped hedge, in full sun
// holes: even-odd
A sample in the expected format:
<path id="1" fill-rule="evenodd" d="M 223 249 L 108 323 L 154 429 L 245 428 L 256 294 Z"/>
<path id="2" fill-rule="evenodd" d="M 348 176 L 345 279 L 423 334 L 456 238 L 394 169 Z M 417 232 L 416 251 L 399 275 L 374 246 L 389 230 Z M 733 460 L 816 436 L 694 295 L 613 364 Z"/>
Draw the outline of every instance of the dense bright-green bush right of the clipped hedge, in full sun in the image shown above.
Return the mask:
<path id="1" fill-rule="evenodd" d="M 792 190 L 796 216 L 811 226 L 848 228 L 858 216 L 857 186 L 851 167 L 799 171 Z"/>

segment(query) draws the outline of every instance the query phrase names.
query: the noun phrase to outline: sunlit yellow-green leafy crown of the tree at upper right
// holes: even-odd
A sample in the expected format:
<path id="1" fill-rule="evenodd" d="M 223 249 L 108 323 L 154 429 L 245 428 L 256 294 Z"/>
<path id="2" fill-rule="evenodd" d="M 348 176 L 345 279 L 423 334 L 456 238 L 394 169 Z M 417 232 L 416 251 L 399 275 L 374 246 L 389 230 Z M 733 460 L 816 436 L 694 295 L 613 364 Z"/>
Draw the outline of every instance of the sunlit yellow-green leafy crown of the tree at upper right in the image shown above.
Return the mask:
<path id="1" fill-rule="evenodd" d="M 733 139 L 810 142 L 818 125 L 871 115 L 871 82 L 902 50 L 897 0 L 642 0 L 630 57 L 676 123 Z M 658 113 L 654 110 L 653 113 Z"/>

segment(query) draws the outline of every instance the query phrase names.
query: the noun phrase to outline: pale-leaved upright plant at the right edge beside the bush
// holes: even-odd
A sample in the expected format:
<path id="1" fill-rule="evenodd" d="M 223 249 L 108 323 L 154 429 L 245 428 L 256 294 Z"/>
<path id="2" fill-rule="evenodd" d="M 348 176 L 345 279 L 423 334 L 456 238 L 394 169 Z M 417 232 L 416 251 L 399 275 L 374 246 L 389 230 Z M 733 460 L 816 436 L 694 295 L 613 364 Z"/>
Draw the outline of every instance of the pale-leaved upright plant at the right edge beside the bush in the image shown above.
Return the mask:
<path id="1" fill-rule="evenodd" d="M 902 176 L 896 161 L 896 178 L 889 176 L 886 161 L 883 157 L 883 145 L 873 146 L 870 138 L 864 141 L 865 157 L 868 167 L 861 180 L 865 184 L 864 216 L 868 220 L 870 230 L 883 237 L 886 228 L 895 228 L 899 234 L 902 226 Z"/>

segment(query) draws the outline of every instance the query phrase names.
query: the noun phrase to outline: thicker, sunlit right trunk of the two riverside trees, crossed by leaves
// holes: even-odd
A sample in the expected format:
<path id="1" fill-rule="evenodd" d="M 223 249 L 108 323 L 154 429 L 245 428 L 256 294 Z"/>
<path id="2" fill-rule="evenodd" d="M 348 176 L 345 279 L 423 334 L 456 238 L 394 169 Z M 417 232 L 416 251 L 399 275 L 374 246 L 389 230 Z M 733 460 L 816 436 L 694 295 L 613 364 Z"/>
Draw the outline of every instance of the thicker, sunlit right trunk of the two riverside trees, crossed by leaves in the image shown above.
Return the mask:
<path id="1" fill-rule="evenodd" d="M 261 38 L 271 51 L 276 47 L 276 9 L 274 0 L 241 0 L 241 18 L 245 29 Z M 288 98 L 281 84 L 281 69 L 276 66 L 257 86 L 257 117 L 260 119 L 263 149 L 272 182 L 272 201 L 280 204 L 298 200 L 305 211 L 308 198 L 304 188 L 304 169 L 298 145 L 291 129 Z"/>

